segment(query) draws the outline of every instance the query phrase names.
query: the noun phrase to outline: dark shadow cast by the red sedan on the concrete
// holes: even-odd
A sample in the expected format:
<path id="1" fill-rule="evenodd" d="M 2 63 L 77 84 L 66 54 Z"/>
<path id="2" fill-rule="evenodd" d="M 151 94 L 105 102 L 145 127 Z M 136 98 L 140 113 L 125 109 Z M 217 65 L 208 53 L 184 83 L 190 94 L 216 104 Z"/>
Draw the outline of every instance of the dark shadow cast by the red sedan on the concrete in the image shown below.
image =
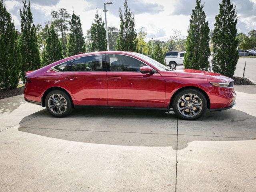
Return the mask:
<path id="1" fill-rule="evenodd" d="M 46 109 L 44 109 L 46 112 Z M 239 110 L 206 112 L 195 121 L 178 120 L 158 110 L 83 109 L 66 118 L 43 110 L 24 117 L 19 131 L 50 138 L 120 146 L 172 146 L 184 149 L 189 142 L 238 141 L 256 138 L 256 117 Z M 36 116 L 36 117 L 35 117 Z M 34 118 L 33 118 L 34 117 Z M 178 128 L 178 137 L 177 137 Z M 179 140 L 179 137 L 185 139 Z"/>

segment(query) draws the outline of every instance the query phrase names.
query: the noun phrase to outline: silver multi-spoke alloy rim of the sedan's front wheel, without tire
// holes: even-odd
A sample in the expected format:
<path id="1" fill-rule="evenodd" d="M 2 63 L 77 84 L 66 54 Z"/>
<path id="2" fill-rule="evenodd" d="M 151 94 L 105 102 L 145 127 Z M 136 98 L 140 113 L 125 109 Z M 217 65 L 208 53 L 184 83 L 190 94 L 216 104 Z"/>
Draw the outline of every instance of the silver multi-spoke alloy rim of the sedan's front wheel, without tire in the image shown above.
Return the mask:
<path id="1" fill-rule="evenodd" d="M 183 116 L 194 117 L 201 112 L 203 104 L 199 96 L 188 93 L 180 97 L 177 106 Z"/>

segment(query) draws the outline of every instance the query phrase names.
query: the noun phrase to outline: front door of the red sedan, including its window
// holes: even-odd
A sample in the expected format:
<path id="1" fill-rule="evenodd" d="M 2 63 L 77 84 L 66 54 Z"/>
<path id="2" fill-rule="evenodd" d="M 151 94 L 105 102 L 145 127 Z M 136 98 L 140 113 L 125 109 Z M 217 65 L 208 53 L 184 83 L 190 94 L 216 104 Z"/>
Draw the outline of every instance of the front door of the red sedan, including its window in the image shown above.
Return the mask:
<path id="1" fill-rule="evenodd" d="M 106 54 L 108 106 L 163 107 L 164 78 L 154 70 L 142 74 L 146 64 L 128 55 Z"/>

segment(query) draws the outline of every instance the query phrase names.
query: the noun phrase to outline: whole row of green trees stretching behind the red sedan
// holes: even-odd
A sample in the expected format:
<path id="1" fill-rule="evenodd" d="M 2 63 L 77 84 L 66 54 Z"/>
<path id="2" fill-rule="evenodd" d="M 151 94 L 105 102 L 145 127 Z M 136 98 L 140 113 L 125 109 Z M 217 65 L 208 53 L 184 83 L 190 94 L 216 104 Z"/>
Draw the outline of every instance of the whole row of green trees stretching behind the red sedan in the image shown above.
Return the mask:
<path id="1" fill-rule="evenodd" d="M 249 35 L 237 34 L 237 16 L 230 0 L 222 0 L 216 15 L 214 30 L 210 32 L 204 4 L 196 0 L 192 10 L 188 36 L 173 30 L 168 41 L 145 42 L 146 32 L 135 31 L 134 13 L 127 0 L 119 9 L 120 29 L 108 28 L 110 50 L 140 52 L 151 55 L 164 63 L 165 52 L 186 50 L 184 67 L 208 70 L 210 44 L 213 52 L 213 70 L 226 76 L 233 76 L 238 61 L 238 44 L 241 48 L 255 46 L 255 30 Z M 96 10 L 90 30 L 83 34 L 80 16 L 74 10 L 70 15 L 65 8 L 51 12 L 52 20 L 45 26 L 33 23 L 30 1 L 23 1 L 20 9 L 21 31 L 18 32 L 10 13 L 0 0 L 0 88 L 16 88 L 19 78 L 25 73 L 56 62 L 80 52 L 107 50 L 106 29 L 101 14 Z M 254 42 L 254 44 L 253 44 Z M 153 49 L 153 50 L 152 50 Z"/>

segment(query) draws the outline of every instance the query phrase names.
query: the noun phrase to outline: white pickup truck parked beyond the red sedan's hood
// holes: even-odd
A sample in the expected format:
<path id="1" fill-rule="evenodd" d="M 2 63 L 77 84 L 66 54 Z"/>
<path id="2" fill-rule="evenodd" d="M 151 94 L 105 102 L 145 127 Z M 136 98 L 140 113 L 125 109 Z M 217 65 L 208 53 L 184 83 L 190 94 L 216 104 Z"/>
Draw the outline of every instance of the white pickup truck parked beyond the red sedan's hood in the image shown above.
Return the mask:
<path id="1" fill-rule="evenodd" d="M 170 68 L 176 68 L 177 65 L 183 65 L 185 51 L 172 51 L 166 52 L 166 58 L 164 59 L 166 65 Z"/>

